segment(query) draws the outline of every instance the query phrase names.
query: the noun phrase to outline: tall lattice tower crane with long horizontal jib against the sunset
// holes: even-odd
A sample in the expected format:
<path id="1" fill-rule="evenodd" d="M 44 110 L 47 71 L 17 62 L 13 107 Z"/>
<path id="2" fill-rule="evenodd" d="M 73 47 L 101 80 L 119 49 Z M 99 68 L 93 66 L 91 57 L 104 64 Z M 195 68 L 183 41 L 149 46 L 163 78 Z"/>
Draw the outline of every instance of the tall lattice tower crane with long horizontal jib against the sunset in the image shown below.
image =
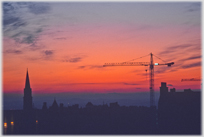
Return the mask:
<path id="1" fill-rule="evenodd" d="M 149 70 L 150 70 L 150 73 L 149 73 L 149 76 L 150 76 L 150 80 L 149 80 L 149 82 L 150 82 L 150 88 L 149 88 L 150 89 L 150 106 L 155 106 L 155 99 L 154 99 L 154 66 L 167 65 L 168 67 L 170 67 L 171 65 L 174 64 L 174 62 L 163 63 L 163 64 L 162 63 L 154 63 L 153 54 L 150 53 L 148 55 L 150 55 L 150 62 L 105 63 L 103 65 L 103 67 L 109 67 L 109 66 L 149 66 Z"/>

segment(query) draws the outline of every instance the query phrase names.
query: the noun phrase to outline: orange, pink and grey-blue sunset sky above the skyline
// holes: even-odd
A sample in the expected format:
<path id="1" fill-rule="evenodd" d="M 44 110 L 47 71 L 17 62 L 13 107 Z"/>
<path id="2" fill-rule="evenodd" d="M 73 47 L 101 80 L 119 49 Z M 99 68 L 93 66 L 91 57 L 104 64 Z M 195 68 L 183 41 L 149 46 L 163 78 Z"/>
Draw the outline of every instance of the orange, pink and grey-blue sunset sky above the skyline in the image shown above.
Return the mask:
<path id="1" fill-rule="evenodd" d="M 125 61 L 155 66 L 155 91 L 200 89 L 200 2 L 4 2 L 3 92 L 21 93 L 28 68 L 32 92 L 149 92 L 147 66 L 103 67 Z M 140 58 L 145 56 L 143 58 Z M 139 58 L 139 59 L 138 59 Z M 148 70 L 147 72 L 145 70 Z"/>

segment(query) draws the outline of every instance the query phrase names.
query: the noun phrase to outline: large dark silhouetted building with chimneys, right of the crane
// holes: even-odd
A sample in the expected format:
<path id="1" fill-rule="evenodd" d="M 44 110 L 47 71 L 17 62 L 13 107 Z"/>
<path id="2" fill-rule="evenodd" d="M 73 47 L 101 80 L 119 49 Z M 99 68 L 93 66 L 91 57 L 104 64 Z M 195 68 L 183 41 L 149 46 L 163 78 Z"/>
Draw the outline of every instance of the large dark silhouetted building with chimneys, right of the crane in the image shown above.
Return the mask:
<path id="1" fill-rule="evenodd" d="M 200 134 L 201 96 L 200 92 L 185 89 L 168 92 L 162 82 L 158 103 L 158 122 L 161 134 Z"/>

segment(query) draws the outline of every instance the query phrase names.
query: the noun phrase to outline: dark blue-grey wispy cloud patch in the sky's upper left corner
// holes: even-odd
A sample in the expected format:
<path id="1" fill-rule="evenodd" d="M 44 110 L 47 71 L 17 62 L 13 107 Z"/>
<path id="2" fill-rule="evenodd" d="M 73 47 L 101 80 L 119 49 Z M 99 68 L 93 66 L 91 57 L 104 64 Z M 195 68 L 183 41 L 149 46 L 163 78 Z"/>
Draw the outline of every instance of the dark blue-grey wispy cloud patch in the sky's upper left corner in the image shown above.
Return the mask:
<path id="1" fill-rule="evenodd" d="M 48 3 L 3 2 L 3 35 L 20 44 L 35 44 L 44 25 L 41 23 L 43 16 L 39 15 L 50 10 Z"/>

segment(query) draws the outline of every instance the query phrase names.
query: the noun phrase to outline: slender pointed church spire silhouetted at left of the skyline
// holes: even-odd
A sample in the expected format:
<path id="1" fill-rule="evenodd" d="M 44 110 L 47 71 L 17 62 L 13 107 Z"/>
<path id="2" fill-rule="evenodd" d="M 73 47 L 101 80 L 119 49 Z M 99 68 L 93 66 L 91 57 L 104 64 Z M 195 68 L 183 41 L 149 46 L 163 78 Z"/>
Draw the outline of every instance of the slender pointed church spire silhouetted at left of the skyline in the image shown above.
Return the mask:
<path id="1" fill-rule="evenodd" d="M 32 109 L 32 90 L 30 88 L 28 70 L 27 70 L 26 83 L 25 83 L 25 88 L 24 88 L 23 109 L 24 110 Z"/>

